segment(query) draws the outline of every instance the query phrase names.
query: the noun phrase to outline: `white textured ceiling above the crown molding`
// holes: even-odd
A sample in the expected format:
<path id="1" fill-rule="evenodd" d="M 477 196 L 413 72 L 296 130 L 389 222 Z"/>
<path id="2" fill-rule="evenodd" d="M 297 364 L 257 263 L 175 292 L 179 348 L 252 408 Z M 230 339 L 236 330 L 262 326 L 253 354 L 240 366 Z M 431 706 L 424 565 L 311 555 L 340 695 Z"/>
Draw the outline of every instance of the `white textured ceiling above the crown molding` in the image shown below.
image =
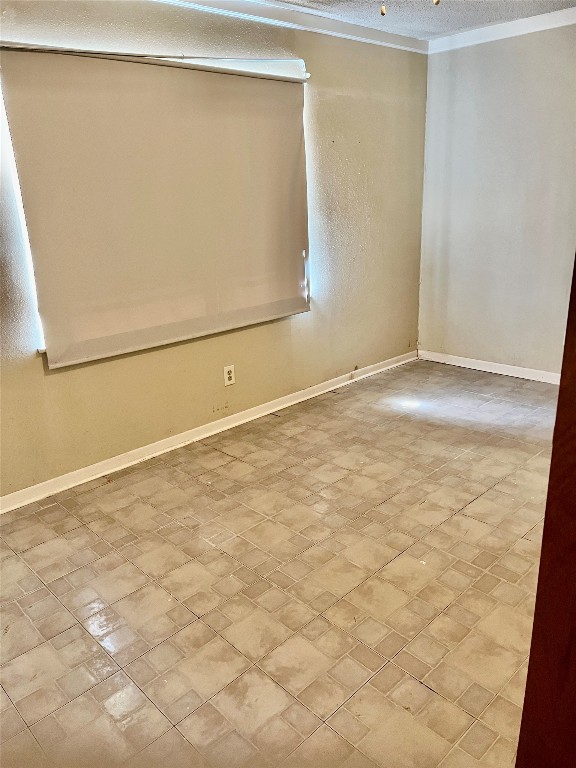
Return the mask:
<path id="1" fill-rule="evenodd" d="M 259 0 L 270 5 L 312 11 L 352 24 L 431 40 L 489 24 L 576 7 L 576 0 Z"/>

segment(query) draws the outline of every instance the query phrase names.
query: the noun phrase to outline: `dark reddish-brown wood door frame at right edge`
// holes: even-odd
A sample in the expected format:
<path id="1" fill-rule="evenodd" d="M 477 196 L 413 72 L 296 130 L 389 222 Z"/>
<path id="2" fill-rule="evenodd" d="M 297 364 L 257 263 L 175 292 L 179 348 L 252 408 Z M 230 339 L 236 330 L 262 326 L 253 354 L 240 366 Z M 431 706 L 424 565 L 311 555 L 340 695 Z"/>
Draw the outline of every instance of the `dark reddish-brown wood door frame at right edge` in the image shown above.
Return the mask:
<path id="1" fill-rule="evenodd" d="M 516 768 L 576 766 L 576 274 Z"/>

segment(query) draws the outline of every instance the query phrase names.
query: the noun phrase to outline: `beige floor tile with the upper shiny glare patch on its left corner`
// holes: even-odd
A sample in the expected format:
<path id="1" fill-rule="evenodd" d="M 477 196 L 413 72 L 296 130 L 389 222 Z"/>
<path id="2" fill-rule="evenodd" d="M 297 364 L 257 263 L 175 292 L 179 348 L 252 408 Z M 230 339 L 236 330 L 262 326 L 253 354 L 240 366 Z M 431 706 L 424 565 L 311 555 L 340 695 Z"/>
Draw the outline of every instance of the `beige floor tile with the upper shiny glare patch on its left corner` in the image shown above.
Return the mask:
<path id="1" fill-rule="evenodd" d="M 165 589 L 149 584 L 82 624 L 123 667 L 195 620 L 196 615 Z"/>

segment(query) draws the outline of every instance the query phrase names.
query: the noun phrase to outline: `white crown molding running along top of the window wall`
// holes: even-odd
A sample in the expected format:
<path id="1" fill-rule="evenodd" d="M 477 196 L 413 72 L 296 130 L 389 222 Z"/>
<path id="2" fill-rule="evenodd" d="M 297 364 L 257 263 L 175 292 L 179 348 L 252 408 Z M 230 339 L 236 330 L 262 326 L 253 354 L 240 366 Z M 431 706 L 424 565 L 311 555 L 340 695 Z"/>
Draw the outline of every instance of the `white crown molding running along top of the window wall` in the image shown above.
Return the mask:
<path id="1" fill-rule="evenodd" d="M 295 10 L 282 4 L 258 2 L 258 0 L 154 0 L 156 3 L 176 5 L 191 10 L 217 13 L 236 19 L 257 21 L 261 24 L 272 24 L 277 27 L 287 27 L 305 32 L 318 32 L 321 35 L 343 37 L 360 43 L 382 45 L 385 48 L 397 48 L 412 53 L 428 53 L 428 41 L 404 35 L 394 35 L 379 29 L 371 29 L 360 24 L 350 24 L 346 21 L 330 19 L 326 16 L 308 10 Z"/>

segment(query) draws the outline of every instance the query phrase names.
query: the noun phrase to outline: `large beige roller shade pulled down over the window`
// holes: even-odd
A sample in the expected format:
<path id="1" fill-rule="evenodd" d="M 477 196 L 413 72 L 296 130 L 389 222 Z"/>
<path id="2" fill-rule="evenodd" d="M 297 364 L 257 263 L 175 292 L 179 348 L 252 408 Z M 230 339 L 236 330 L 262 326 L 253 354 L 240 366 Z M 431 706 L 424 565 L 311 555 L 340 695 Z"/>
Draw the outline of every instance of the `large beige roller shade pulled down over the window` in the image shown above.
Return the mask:
<path id="1" fill-rule="evenodd" d="M 304 86 L 7 51 L 48 364 L 309 309 Z"/>

